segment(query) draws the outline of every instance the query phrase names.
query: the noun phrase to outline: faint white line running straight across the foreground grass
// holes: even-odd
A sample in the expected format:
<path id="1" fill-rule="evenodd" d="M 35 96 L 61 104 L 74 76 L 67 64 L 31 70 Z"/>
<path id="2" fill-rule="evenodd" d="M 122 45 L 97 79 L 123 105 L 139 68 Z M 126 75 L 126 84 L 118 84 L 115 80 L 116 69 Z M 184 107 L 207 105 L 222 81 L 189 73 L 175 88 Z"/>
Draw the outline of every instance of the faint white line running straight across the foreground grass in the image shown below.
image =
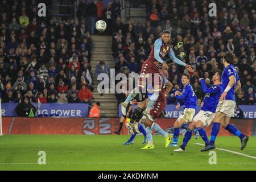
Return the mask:
<path id="1" fill-rule="evenodd" d="M 0 163 L 0 165 L 38 164 L 38 163 Z M 201 162 L 56 162 L 46 164 L 209 164 Z M 218 164 L 256 164 L 256 163 L 218 163 Z"/>

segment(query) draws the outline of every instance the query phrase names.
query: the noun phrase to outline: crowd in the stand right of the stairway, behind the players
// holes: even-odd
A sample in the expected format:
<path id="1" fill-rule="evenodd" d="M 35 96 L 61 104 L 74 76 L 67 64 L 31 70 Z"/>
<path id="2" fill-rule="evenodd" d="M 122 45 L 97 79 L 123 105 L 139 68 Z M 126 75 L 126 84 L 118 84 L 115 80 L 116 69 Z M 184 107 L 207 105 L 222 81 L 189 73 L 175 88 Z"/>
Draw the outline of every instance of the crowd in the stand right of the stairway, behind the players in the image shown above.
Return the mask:
<path id="1" fill-rule="evenodd" d="M 163 30 L 171 31 L 171 44 L 183 42 L 187 56 L 183 61 L 191 64 L 194 73 L 191 84 L 198 98 L 204 98 L 198 79 L 205 78 L 207 85 L 214 72 L 224 69 L 222 57 L 225 52 L 236 55 L 236 69 L 240 75 L 242 89 L 237 93 L 237 103 L 256 105 L 256 3 L 250 1 L 218 1 L 217 16 L 208 15 L 208 5 L 213 1 L 139 1 L 146 5 L 146 25 L 133 22 L 128 18 L 113 22 L 113 57 L 115 71 L 139 73 L 147 59 L 152 44 Z M 138 3 L 138 2 L 137 2 Z M 181 90 L 181 75 L 184 67 L 169 64 L 168 79 L 174 85 L 167 98 L 167 104 L 175 104 L 176 90 Z M 117 94 L 119 102 L 124 94 Z"/>

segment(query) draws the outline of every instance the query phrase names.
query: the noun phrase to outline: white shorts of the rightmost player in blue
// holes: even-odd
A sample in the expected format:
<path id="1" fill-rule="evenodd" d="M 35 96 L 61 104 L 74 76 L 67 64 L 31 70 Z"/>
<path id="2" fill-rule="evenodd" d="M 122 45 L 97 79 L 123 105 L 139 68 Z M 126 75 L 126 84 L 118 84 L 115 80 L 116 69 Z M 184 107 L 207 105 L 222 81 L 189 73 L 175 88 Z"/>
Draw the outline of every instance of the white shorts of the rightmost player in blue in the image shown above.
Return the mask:
<path id="1" fill-rule="evenodd" d="M 226 114 L 227 117 L 233 117 L 235 107 L 236 107 L 236 102 L 234 101 L 231 101 L 231 100 L 218 101 L 216 113 L 221 112 Z"/>

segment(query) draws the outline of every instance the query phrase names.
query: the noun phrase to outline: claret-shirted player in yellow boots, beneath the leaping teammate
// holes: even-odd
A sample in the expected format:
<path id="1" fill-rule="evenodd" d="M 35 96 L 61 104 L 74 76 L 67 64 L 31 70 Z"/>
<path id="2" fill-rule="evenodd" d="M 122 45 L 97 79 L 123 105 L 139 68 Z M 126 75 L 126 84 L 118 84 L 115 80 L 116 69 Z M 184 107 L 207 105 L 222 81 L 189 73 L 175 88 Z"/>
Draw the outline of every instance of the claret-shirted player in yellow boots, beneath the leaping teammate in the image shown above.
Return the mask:
<path id="1" fill-rule="evenodd" d="M 164 108 L 166 107 L 166 96 L 172 89 L 172 84 L 170 81 L 168 81 L 162 73 L 159 73 L 159 79 L 160 79 L 160 85 L 161 90 L 159 92 L 159 97 L 156 100 L 154 106 L 152 106 L 152 109 L 150 110 L 150 115 L 153 120 L 150 118 L 147 118 L 145 115 L 142 117 L 144 120 L 144 125 L 146 127 L 146 134 L 147 134 L 147 141 L 148 143 L 146 146 L 142 147 L 141 149 L 154 149 L 155 146 L 153 144 L 153 138 L 152 138 L 152 129 L 154 129 L 156 132 L 163 135 L 163 137 L 166 140 L 166 147 L 171 142 L 171 135 L 168 135 L 157 123 L 155 123 L 155 119 L 159 117 L 159 115 L 163 112 Z M 165 87 L 167 87 L 165 89 Z M 151 96 L 152 97 L 152 96 Z"/>

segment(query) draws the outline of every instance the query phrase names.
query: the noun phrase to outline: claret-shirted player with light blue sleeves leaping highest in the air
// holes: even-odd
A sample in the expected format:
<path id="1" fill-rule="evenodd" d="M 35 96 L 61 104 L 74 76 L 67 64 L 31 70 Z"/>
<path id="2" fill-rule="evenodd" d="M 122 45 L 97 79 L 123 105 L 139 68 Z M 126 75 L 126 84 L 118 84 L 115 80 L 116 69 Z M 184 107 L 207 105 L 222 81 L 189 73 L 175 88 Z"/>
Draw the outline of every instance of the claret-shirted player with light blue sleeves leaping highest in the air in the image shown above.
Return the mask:
<path id="1" fill-rule="evenodd" d="M 163 31 L 162 37 L 157 39 L 154 43 L 154 47 L 152 47 L 150 55 L 146 61 L 144 61 L 141 68 L 141 75 L 139 76 L 138 86 L 134 88 L 129 96 L 126 98 L 125 102 L 121 104 L 122 113 L 125 114 L 126 107 L 128 103 L 133 100 L 133 98 L 138 94 L 142 93 L 143 97 L 146 97 L 147 94 L 147 81 L 152 82 L 152 87 L 154 88 L 154 93 L 152 94 L 150 101 L 146 107 L 146 110 L 143 111 L 143 114 L 146 115 L 148 119 L 151 121 L 153 118 L 150 115 L 150 109 L 154 106 L 155 101 L 158 99 L 159 94 L 158 90 L 161 88 L 159 80 L 159 65 L 162 65 L 163 69 L 168 69 L 168 65 L 166 61 L 170 58 L 174 63 L 183 65 L 185 68 L 189 70 L 189 72 L 193 72 L 191 65 L 183 63 L 183 61 L 177 59 L 174 55 L 174 51 L 169 44 L 171 39 L 171 33 L 168 30 Z M 155 82 L 156 80 L 156 82 Z M 142 111 L 142 110 L 141 110 Z M 138 123 L 134 122 L 130 123 L 130 128 L 134 127 L 134 129 L 138 130 Z M 132 132 L 132 131 L 131 131 Z"/>

